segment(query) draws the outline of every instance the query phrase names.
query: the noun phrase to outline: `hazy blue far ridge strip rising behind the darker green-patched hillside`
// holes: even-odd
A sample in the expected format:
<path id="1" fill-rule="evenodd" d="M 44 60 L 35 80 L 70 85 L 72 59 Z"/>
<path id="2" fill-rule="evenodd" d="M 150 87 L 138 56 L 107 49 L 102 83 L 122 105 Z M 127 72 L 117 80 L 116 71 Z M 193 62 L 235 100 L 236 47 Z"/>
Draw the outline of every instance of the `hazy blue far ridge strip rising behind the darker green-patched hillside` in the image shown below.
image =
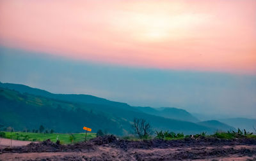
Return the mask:
<path id="1" fill-rule="evenodd" d="M 84 94 L 52 94 L 45 90 L 40 90 L 38 88 L 31 88 L 26 85 L 13 84 L 13 83 L 1 83 L 0 87 L 8 88 L 11 90 L 16 90 L 20 93 L 28 93 L 33 95 L 38 95 L 42 97 L 47 97 L 51 99 L 58 99 L 60 101 L 68 101 L 75 103 L 89 103 L 89 104 L 100 104 L 106 106 L 115 106 L 116 108 L 129 109 L 131 111 L 141 111 L 150 115 L 162 116 L 164 118 L 171 118 L 175 120 L 182 120 L 186 122 L 199 122 L 195 116 L 188 113 L 184 109 L 178 108 L 150 108 L 150 107 L 132 107 L 128 104 L 122 102 L 109 101 L 108 99 L 102 99 L 100 97 L 95 97 L 93 95 Z"/>

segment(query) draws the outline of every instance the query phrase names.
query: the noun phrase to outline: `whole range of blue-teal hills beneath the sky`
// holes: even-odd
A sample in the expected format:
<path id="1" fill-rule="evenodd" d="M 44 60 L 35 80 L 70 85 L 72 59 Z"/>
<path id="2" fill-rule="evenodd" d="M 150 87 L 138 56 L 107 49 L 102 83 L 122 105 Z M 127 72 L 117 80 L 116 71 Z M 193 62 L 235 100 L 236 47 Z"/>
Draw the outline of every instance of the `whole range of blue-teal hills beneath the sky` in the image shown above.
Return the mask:
<path id="1" fill-rule="evenodd" d="M 134 118 L 145 118 L 154 130 L 185 134 L 236 130 L 236 118 L 228 123 L 227 120 L 223 120 L 225 123 L 217 120 L 200 122 L 184 109 L 134 107 L 93 95 L 52 94 L 13 83 L 0 83 L 0 90 L 0 124 L 15 130 L 36 129 L 44 125 L 57 132 L 83 132 L 81 127 L 87 125 L 93 132 L 102 129 L 112 134 L 127 135 L 132 133 Z M 253 120 L 248 122 L 253 123 Z M 241 129 L 248 128 L 240 126 Z"/>

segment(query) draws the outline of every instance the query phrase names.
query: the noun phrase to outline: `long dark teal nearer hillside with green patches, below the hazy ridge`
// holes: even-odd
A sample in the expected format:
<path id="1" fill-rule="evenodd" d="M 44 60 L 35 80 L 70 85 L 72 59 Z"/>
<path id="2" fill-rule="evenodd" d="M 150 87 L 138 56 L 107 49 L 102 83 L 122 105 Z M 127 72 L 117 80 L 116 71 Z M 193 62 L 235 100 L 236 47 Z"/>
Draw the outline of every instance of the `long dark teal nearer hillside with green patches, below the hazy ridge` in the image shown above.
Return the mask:
<path id="1" fill-rule="evenodd" d="M 102 129 L 112 134 L 124 135 L 132 132 L 131 122 L 136 117 L 148 120 L 154 130 L 185 134 L 214 132 L 214 129 L 196 123 L 148 115 L 140 111 L 109 105 L 60 101 L 38 95 L 20 94 L 5 88 L 0 91 L 0 104 L 0 123 L 17 130 L 35 129 L 42 124 L 56 132 L 83 132 L 81 127 L 86 125 L 91 127 L 93 132 Z"/>

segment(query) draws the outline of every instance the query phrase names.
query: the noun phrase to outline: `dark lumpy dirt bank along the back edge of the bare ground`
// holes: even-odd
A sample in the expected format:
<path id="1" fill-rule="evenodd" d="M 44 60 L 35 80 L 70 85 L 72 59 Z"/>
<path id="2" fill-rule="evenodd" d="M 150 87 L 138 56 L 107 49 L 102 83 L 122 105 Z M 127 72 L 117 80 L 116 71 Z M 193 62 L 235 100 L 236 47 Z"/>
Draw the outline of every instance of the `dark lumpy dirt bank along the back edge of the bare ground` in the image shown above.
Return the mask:
<path id="1" fill-rule="evenodd" d="M 195 148 L 205 146 L 234 146 L 234 145 L 256 145 L 256 139 L 218 139 L 214 137 L 202 137 L 200 139 L 185 138 L 178 140 L 166 141 L 163 139 L 152 139 L 143 141 L 127 141 L 117 139 L 115 136 L 99 136 L 87 142 L 76 144 L 61 145 L 52 143 L 49 139 L 40 143 L 30 143 L 27 146 L 19 146 L 13 148 L 4 148 L 1 153 L 30 153 L 30 152 L 54 152 L 54 151 L 95 151 L 98 146 L 107 146 L 122 150 L 143 149 L 150 150 L 152 148 Z"/>

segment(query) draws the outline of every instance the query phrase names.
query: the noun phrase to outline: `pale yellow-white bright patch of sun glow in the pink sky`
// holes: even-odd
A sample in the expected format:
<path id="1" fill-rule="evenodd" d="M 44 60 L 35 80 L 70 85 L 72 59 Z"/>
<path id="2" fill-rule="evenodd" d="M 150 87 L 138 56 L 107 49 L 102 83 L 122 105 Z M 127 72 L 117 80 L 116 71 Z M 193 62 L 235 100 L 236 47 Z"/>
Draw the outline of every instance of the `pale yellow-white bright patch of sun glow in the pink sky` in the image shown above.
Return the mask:
<path id="1" fill-rule="evenodd" d="M 114 23 L 115 28 L 129 32 L 133 41 L 162 42 L 190 38 L 198 26 L 207 25 L 209 15 L 184 13 L 129 13 Z M 115 20 L 113 22 L 116 22 Z"/>

